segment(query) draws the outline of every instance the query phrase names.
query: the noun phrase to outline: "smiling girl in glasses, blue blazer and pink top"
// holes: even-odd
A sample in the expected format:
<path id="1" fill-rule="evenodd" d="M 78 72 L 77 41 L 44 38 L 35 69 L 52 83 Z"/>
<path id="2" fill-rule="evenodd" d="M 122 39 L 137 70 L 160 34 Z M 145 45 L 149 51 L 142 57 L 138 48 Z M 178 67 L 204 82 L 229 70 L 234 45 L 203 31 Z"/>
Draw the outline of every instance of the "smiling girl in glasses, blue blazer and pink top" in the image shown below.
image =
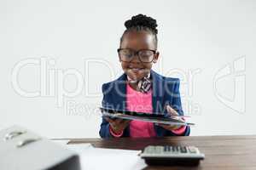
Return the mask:
<path id="1" fill-rule="evenodd" d="M 156 20 L 138 14 L 126 20 L 125 27 L 118 49 L 124 74 L 102 85 L 102 106 L 116 110 L 183 115 L 179 79 L 163 77 L 151 70 L 160 55 L 157 51 Z M 102 118 L 100 136 L 188 136 L 189 131 L 189 126 Z"/>

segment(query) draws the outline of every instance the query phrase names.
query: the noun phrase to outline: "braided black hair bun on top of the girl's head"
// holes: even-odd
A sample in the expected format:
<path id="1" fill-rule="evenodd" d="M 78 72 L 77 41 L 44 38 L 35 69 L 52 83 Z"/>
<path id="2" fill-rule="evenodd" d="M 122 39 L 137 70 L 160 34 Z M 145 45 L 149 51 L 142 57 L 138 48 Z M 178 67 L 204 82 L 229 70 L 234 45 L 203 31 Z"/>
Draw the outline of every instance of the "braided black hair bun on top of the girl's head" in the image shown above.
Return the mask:
<path id="1" fill-rule="evenodd" d="M 126 29 L 129 29 L 131 27 L 136 27 L 136 26 L 145 26 L 153 30 L 157 34 L 157 24 L 156 20 L 153 18 L 144 15 L 144 14 L 137 14 L 136 16 L 131 17 L 131 20 L 126 20 L 125 21 L 125 27 Z"/>

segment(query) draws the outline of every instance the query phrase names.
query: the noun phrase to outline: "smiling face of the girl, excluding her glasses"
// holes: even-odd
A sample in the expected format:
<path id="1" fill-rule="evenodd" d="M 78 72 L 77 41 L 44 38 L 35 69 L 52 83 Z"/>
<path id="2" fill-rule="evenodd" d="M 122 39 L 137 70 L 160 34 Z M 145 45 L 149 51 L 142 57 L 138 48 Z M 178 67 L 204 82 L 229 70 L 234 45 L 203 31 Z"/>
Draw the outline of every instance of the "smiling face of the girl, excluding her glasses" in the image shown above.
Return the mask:
<path id="1" fill-rule="evenodd" d="M 154 36 L 147 31 L 128 31 L 123 37 L 120 48 L 129 48 L 134 51 L 140 49 L 156 50 Z M 141 80 L 150 72 L 153 63 L 156 63 L 159 53 L 154 54 L 154 59 L 150 63 L 143 63 L 137 55 L 134 55 L 130 62 L 121 61 L 125 74 L 134 81 Z"/>

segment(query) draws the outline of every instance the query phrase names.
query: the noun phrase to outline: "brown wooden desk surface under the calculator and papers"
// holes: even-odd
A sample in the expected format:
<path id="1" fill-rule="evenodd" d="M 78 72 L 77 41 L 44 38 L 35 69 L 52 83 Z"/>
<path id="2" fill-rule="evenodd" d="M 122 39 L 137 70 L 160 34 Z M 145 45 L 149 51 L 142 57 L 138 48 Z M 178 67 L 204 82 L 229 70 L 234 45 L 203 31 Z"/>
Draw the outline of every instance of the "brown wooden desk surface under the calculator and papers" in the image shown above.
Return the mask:
<path id="1" fill-rule="evenodd" d="M 142 150 L 148 144 L 195 145 L 206 159 L 199 167 L 146 167 L 145 169 L 255 170 L 255 136 L 168 137 L 153 139 L 72 139 L 69 144 L 91 143 L 100 148 Z"/>

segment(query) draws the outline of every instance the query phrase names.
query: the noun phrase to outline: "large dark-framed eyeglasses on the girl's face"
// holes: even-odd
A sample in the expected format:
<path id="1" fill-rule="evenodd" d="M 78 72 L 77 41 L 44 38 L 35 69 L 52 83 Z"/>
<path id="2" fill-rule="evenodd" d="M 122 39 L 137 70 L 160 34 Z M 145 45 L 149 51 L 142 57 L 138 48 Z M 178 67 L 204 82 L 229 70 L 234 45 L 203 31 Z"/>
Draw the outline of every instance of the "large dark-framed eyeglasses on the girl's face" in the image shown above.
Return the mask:
<path id="1" fill-rule="evenodd" d="M 151 63 L 154 59 L 154 54 L 156 50 L 152 49 L 140 49 L 138 51 L 129 48 L 118 48 L 120 61 L 131 62 L 135 55 L 143 63 Z"/>

